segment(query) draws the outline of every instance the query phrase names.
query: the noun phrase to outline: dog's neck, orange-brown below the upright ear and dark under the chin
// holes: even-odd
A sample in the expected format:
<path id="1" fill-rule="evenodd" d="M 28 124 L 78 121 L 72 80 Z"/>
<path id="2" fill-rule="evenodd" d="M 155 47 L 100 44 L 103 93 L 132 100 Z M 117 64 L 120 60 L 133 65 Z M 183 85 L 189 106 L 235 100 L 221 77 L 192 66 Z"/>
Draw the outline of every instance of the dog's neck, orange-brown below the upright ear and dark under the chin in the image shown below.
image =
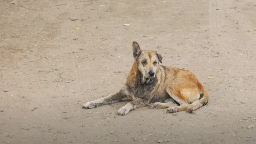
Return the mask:
<path id="1" fill-rule="evenodd" d="M 137 68 L 137 62 L 134 61 L 132 69 L 126 77 L 126 83 L 132 87 L 143 84 L 152 84 L 156 78 L 145 78 Z"/>

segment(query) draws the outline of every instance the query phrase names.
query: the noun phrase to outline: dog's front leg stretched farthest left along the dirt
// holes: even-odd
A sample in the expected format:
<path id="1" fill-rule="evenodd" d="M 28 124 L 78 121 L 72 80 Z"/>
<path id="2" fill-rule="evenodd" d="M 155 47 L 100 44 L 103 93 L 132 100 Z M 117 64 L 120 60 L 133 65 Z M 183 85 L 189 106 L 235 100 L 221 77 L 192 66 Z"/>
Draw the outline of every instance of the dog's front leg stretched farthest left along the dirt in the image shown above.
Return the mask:
<path id="1" fill-rule="evenodd" d="M 86 102 L 82 108 L 96 108 L 101 105 L 110 104 L 110 103 L 116 103 L 118 101 L 123 101 L 127 99 L 127 95 L 122 93 L 122 90 L 115 94 L 110 94 L 109 96 L 106 96 L 101 99 L 97 99 L 95 101 L 89 101 Z"/>

